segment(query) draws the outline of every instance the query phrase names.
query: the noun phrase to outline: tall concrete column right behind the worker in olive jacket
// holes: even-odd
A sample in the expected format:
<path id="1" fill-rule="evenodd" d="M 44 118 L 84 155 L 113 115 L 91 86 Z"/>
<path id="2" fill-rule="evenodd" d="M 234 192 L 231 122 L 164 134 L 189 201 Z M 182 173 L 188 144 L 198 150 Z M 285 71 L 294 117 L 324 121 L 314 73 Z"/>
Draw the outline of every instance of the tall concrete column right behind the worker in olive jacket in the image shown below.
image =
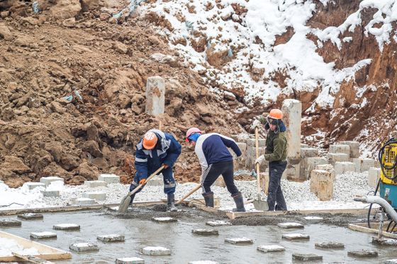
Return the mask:
<path id="1" fill-rule="evenodd" d="M 283 121 L 287 127 L 288 138 L 286 177 L 289 180 L 306 180 L 300 176 L 302 103 L 298 100 L 286 99 L 281 111 L 284 114 Z"/>

